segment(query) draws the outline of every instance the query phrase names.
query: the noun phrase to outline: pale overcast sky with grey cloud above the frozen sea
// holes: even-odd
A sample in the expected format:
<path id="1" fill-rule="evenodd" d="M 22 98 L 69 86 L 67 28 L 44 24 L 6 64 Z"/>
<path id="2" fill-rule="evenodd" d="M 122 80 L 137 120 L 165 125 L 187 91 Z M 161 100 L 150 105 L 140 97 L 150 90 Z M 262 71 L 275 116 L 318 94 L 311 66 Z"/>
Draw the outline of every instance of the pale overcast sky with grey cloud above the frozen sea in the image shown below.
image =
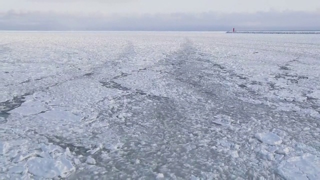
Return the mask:
<path id="1" fill-rule="evenodd" d="M 320 30 L 320 0 L 0 0 L 0 30 Z"/>

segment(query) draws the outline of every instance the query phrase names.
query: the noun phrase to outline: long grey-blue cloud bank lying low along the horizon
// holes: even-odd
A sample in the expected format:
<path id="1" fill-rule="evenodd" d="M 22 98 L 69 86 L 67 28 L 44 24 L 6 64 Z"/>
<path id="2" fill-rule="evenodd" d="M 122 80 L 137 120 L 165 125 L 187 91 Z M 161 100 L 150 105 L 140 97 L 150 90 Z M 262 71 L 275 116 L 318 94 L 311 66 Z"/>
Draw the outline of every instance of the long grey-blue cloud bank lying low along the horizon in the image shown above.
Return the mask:
<path id="1" fill-rule="evenodd" d="M 318 30 L 320 12 L 81 15 L 36 11 L 0 13 L 0 30 Z"/>

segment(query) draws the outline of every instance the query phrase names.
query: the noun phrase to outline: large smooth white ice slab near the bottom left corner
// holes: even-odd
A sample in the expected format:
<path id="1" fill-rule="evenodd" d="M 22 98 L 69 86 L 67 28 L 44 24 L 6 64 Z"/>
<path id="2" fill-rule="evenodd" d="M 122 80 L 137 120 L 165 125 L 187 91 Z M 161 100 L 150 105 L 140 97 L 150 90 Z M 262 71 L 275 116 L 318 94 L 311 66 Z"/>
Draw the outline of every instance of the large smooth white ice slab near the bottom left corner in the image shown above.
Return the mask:
<path id="1" fill-rule="evenodd" d="M 66 177 L 75 168 L 72 163 L 65 159 L 49 159 L 42 157 L 34 157 L 27 161 L 29 173 L 44 177 L 53 178 L 56 176 Z"/>

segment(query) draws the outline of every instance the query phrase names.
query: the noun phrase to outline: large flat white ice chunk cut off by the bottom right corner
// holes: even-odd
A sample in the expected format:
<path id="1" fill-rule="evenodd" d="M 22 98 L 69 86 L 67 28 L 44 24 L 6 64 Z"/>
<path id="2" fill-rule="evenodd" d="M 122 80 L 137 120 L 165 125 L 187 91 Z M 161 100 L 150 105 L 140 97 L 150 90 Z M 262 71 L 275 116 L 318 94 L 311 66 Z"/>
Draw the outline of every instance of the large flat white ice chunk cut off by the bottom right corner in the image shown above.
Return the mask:
<path id="1" fill-rule="evenodd" d="M 320 179 L 320 158 L 305 153 L 302 156 L 291 157 L 278 166 L 278 173 L 284 179 L 318 180 Z"/>

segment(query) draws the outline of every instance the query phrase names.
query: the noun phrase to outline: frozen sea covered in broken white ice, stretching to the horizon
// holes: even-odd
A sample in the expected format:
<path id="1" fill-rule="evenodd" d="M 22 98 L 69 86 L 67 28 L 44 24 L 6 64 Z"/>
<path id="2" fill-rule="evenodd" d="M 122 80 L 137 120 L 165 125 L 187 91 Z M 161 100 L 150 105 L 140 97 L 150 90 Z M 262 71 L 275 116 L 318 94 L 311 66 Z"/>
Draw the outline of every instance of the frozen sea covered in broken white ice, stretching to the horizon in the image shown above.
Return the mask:
<path id="1" fill-rule="evenodd" d="M 0 179 L 320 179 L 320 35 L 0 32 Z"/>

